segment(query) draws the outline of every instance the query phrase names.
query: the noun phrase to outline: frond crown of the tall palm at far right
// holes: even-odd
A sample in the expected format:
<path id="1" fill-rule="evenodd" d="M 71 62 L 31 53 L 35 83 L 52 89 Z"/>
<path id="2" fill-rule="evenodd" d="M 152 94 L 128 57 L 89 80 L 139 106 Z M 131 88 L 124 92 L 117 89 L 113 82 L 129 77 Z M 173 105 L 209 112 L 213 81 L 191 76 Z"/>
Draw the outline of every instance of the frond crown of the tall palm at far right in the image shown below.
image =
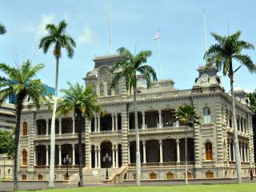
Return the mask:
<path id="1" fill-rule="evenodd" d="M 240 69 L 240 67 L 246 66 L 250 73 L 256 72 L 256 66 L 252 62 L 251 58 L 247 54 L 242 54 L 242 50 L 254 49 L 254 46 L 250 42 L 239 40 L 241 31 L 237 31 L 230 36 L 221 36 L 217 33 L 211 33 L 216 44 L 210 46 L 206 51 L 204 58 L 206 59 L 206 67 L 215 65 L 218 70 L 222 70 L 224 76 L 228 75 L 233 82 L 234 73 Z M 236 60 L 242 63 L 237 69 L 233 69 L 232 60 Z"/>

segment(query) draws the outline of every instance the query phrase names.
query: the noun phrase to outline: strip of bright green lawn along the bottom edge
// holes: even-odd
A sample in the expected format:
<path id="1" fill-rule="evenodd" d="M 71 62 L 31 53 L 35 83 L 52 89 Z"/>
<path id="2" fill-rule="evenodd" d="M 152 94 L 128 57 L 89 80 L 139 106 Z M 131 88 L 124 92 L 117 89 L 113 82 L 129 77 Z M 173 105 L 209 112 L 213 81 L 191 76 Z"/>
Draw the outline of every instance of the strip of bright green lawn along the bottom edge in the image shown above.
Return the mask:
<path id="1" fill-rule="evenodd" d="M 37 190 L 40 192 L 256 192 L 256 183 L 189 185 L 189 186 L 97 186 L 58 190 Z"/>

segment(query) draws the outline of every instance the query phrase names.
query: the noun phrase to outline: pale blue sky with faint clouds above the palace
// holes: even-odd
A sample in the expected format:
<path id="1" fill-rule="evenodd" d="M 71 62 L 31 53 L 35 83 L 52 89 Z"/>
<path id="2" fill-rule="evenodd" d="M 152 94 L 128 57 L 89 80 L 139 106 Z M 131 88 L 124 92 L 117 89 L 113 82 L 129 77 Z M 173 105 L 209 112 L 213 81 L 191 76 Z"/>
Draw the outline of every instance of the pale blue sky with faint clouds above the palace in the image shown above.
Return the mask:
<path id="1" fill-rule="evenodd" d="M 176 89 L 191 89 L 194 79 L 198 77 L 198 66 L 205 64 L 203 55 L 206 42 L 208 47 L 214 44 L 211 32 L 227 35 L 228 31 L 233 34 L 241 30 L 241 38 L 256 46 L 255 7 L 253 0 L 6 0 L 1 2 L 0 7 L 0 22 L 7 30 L 6 34 L 0 36 L 0 62 L 15 66 L 15 61 L 21 64 L 26 59 L 34 58 L 34 64 L 45 64 L 38 78 L 54 86 L 53 47 L 43 54 L 38 44 L 40 38 L 46 35 L 47 23 L 58 24 L 65 19 L 68 23 L 66 32 L 74 38 L 77 47 L 72 59 L 67 58 L 65 50 L 62 51 L 59 89 L 66 89 L 66 82 L 84 83 L 82 78 L 94 68 L 93 59 L 114 54 L 121 46 L 132 53 L 151 50 L 153 55 L 147 64 L 154 67 L 158 78 L 173 79 Z M 112 51 L 109 49 L 110 12 Z M 158 42 L 154 41 L 158 30 L 161 76 Z M 244 53 L 256 62 L 256 50 Z M 238 66 L 238 63 L 234 62 L 234 66 Z M 256 74 L 250 74 L 242 67 L 235 75 L 234 87 L 247 91 L 256 89 Z M 226 90 L 230 90 L 229 78 L 222 77 L 222 84 Z"/>

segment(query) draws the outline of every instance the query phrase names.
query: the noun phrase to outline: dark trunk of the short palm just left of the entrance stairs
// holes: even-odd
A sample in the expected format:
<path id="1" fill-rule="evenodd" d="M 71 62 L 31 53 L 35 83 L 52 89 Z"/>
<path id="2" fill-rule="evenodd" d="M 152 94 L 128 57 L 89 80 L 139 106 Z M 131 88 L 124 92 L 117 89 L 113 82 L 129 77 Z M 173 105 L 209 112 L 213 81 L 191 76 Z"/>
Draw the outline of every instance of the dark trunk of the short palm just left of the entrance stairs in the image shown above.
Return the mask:
<path id="1" fill-rule="evenodd" d="M 78 155 L 79 155 L 79 182 L 78 186 L 83 186 L 82 178 L 82 115 L 78 114 Z"/>

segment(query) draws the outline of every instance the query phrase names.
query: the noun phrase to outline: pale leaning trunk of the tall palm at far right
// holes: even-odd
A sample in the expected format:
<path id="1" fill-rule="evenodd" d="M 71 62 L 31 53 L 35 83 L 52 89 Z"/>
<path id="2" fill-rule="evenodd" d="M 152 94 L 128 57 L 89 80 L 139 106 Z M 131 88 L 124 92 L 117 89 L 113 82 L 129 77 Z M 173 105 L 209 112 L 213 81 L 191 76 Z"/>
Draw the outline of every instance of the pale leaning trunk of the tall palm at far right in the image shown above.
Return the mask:
<path id="1" fill-rule="evenodd" d="M 234 124 L 234 153 L 235 153 L 235 165 L 237 168 L 237 180 L 238 183 L 242 183 L 241 176 L 241 157 L 239 151 L 239 142 L 238 142 L 238 125 L 235 115 L 235 106 L 234 106 L 234 90 L 233 90 L 233 77 L 230 78 L 230 87 L 231 87 L 231 97 L 232 97 L 232 113 L 233 113 L 233 124 Z"/>

